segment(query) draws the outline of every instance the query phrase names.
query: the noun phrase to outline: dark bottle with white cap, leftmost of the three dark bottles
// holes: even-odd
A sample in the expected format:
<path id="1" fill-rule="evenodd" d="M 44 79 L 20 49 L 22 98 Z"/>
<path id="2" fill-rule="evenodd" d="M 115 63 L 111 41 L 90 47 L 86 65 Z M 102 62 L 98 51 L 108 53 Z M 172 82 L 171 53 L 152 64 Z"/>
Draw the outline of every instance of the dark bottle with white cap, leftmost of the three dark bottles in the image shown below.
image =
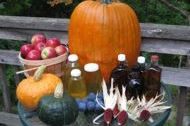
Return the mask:
<path id="1" fill-rule="evenodd" d="M 118 55 L 118 65 L 112 70 L 110 76 L 114 79 L 114 87 L 118 86 L 120 93 L 122 93 L 122 86 L 128 87 L 128 65 L 125 54 Z"/>

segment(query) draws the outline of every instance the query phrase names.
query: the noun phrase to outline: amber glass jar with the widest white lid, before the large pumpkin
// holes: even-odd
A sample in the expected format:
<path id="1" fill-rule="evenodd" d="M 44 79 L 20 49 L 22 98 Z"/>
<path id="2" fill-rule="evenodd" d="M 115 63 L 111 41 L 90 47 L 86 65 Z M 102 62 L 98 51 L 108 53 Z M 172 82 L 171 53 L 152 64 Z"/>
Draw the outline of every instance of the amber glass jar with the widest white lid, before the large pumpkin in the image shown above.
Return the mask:
<path id="1" fill-rule="evenodd" d="M 97 93 L 101 89 L 102 76 L 99 65 L 96 63 L 88 63 L 84 65 L 84 79 L 86 82 L 88 94 Z"/>

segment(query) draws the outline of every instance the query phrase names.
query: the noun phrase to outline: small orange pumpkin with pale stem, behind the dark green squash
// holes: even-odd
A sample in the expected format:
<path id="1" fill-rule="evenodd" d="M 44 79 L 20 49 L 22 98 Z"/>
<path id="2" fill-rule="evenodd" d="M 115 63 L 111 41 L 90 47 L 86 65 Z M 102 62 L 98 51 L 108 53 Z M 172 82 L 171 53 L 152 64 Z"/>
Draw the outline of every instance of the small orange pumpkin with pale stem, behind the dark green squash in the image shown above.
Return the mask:
<path id="1" fill-rule="evenodd" d="M 26 109 L 35 109 L 41 97 L 54 92 L 61 79 L 54 74 L 44 73 L 45 66 L 40 66 L 34 76 L 22 80 L 17 89 L 18 100 Z"/>

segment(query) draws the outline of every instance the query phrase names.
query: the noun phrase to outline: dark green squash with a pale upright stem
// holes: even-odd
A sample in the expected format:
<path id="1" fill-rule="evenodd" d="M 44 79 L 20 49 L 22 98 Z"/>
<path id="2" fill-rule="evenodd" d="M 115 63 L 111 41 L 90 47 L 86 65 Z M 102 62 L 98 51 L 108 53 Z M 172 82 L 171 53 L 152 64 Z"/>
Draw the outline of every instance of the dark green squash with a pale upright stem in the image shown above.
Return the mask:
<path id="1" fill-rule="evenodd" d="M 78 116 L 78 105 L 73 97 L 63 92 L 63 84 L 58 84 L 54 95 L 44 96 L 40 100 L 38 116 L 51 126 L 69 125 Z"/>

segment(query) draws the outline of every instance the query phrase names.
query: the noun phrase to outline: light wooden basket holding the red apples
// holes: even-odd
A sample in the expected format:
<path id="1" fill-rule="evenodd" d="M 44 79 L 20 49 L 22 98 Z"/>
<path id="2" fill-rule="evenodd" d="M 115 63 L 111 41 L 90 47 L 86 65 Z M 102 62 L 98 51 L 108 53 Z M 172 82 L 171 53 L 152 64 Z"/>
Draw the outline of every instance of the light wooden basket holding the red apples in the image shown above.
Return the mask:
<path id="1" fill-rule="evenodd" d="M 59 77 L 63 75 L 63 69 L 65 67 L 67 57 L 68 57 L 68 53 L 57 56 L 55 58 L 45 59 L 45 60 L 26 60 L 21 57 L 21 54 L 19 54 L 18 56 L 20 63 L 24 67 L 24 70 L 36 68 L 40 65 L 46 65 L 47 68 L 45 70 L 45 73 L 53 73 Z M 25 72 L 24 74 L 26 77 L 33 76 L 34 72 L 35 72 L 35 69 Z"/>

